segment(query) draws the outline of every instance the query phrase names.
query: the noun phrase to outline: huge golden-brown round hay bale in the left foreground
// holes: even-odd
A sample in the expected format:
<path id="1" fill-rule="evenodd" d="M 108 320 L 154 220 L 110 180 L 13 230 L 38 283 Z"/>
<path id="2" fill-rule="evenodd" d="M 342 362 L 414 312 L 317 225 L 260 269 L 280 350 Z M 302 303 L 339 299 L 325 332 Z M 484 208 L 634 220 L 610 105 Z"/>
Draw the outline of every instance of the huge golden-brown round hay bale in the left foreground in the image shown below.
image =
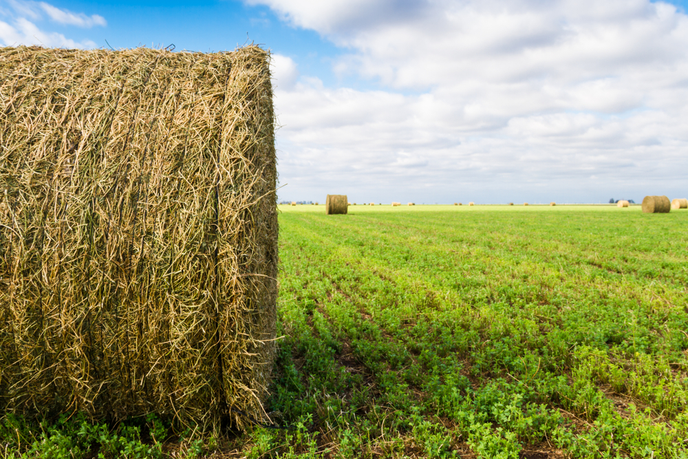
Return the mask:
<path id="1" fill-rule="evenodd" d="M 270 56 L 0 47 L 0 410 L 265 418 Z"/>

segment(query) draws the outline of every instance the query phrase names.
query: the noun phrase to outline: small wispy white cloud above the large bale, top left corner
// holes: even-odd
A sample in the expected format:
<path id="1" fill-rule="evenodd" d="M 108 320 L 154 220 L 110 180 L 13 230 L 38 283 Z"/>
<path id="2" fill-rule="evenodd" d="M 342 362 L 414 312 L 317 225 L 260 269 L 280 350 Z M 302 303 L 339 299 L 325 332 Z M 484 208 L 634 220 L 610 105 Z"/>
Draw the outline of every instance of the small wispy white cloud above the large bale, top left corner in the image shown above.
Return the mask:
<path id="1" fill-rule="evenodd" d="M 44 14 L 53 22 L 91 28 L 107 25 L 98 14 L 87 16 L 69 10 L 56 8 L 45 2 L 8 1 L 9 8 L 0 8 L 0 45 L 41 45 L 45 47 L 89 48 L 96 43 L 90 40 L 75 41 L 58 32 L 49 32 L 39 27 Z"/>

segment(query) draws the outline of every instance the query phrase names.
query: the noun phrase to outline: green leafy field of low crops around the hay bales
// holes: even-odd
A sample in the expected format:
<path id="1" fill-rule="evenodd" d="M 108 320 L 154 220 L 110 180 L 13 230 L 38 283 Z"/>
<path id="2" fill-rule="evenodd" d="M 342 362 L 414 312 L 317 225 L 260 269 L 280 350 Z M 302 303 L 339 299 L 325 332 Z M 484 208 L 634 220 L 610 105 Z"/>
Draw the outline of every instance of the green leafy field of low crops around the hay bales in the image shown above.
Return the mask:
<path id="1" fill-rule="evenodd" d="M 149 457 L 112 436 L 160 457 L 688 457 L 688 211 L 280 208 L 266 410 L 294 430 L 6 416 L 0 457 L 74 438 L 64 457 Z"/>

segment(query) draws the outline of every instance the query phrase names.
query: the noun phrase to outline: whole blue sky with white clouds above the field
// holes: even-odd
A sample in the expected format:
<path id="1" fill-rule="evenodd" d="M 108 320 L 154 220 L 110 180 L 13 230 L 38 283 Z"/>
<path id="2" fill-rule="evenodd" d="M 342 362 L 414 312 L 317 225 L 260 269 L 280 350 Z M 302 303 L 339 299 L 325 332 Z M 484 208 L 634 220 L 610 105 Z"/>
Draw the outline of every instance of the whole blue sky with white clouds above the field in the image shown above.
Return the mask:
<path id="1" fill-rule="evenodd" d="M 271 51 L 279 200 L 688 196 L 688 1 L 0 0 L 0 45 Z"/>

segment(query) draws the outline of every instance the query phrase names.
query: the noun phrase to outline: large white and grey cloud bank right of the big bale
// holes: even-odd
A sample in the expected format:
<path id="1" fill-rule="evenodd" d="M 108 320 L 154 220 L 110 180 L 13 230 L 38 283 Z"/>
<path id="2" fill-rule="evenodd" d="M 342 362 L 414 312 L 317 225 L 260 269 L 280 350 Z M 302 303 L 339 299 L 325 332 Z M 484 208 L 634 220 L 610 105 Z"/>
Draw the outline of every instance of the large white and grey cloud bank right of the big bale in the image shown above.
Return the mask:
<path id="1" fill-rule="evenodd" d="M 380 87 L 324 87 L 278 63 L 284 196 L 339 184 L 389 200 L 566 201 L 685 184 L 688 17 L 667 3 L 250 3 L 348 50 L 334 71 Z"/>

